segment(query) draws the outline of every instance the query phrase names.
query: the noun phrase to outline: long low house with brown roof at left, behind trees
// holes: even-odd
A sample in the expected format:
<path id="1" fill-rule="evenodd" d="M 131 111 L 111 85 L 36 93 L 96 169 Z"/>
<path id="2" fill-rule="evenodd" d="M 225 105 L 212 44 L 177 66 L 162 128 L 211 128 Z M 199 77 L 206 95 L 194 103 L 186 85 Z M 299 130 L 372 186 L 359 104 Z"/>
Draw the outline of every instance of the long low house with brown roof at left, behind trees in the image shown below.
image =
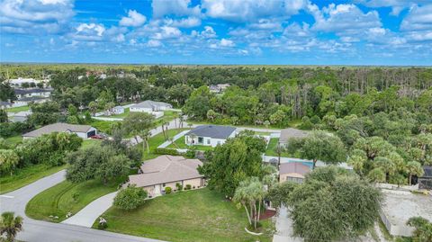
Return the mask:
<path id="1" fill-rule="evenodd" d="M 52 132 L 68 132 L 75 133 L 78 137 L 88 139 L 97 134 L 97 130 L 90 125 L 80 124 L 68 124 L 64 122 L 56 122 L 38 130 L 32 130 L 28 133 L 23 134 L 24 139 L 38 138 L 44 134 L 50 134 Z"/>

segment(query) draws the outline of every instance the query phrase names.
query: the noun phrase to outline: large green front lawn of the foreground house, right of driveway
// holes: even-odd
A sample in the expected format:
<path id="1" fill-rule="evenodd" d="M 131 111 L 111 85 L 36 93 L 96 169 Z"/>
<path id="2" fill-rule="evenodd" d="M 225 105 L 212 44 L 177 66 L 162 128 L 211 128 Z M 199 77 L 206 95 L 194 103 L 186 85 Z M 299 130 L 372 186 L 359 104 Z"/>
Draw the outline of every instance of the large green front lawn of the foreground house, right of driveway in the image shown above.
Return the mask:
<path id="1" fill-rule="evenodd" d="M 112 207 L 102 217 L 112 232 L 166 241 L 271 241 L 273 237 L 268 231 L 271 220 L 263 221 L 265 235 L 247 234 L 244 209 L 208 188 L 157 197 L 134 211 Z"/>

